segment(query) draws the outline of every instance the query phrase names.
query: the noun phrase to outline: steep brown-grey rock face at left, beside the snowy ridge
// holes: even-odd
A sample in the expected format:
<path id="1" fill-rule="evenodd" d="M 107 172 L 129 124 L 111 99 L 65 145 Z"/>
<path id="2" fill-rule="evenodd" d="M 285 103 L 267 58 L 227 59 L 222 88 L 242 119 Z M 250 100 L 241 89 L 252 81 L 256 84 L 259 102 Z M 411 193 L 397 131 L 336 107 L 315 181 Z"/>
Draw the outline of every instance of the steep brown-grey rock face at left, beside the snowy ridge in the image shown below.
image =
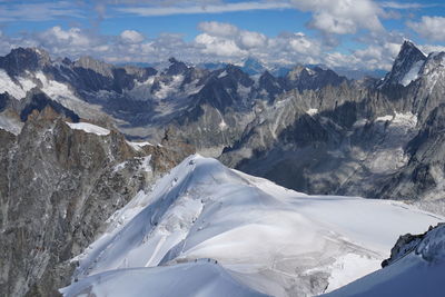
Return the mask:
<path id="1" fill-rule="evenodd" d="M 56 296 L 70 283 L 76 266 L 70 259 L 96 239 L 112 212 L 187 154 L 150 146 L 135 150 L 116 131 L 73 130 L 50 108 L 30 115 L 18 136 L 0 129 L 0 141 L 6 296 Z"/>

